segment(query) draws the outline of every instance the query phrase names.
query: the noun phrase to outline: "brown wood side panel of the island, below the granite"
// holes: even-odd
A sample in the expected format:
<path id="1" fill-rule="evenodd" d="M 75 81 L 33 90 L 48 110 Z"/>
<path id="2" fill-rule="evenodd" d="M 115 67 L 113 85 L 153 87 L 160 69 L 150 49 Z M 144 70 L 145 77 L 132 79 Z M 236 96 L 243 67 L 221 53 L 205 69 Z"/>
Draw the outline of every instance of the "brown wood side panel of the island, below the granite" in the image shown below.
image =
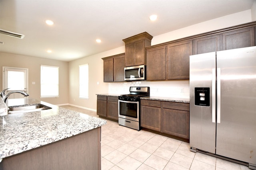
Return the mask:
<path id="1" fill-rule="evenodd" d="M 1 170 L 101 170 L 101 127 L 4 158 Z"/>

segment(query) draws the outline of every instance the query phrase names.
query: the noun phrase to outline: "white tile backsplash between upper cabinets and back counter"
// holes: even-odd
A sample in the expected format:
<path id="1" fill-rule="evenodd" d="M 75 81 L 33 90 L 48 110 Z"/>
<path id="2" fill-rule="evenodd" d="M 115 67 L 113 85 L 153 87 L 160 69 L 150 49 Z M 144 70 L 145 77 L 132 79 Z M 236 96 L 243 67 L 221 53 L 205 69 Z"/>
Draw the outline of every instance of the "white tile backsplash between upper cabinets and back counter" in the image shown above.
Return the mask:
<path id="1" fill-rule="evenodd" d="M 130 86 L 150 87 L 150 96 L 189 98 L 189 80 L 113 82 L 109 94 L 129 94 Z"/>

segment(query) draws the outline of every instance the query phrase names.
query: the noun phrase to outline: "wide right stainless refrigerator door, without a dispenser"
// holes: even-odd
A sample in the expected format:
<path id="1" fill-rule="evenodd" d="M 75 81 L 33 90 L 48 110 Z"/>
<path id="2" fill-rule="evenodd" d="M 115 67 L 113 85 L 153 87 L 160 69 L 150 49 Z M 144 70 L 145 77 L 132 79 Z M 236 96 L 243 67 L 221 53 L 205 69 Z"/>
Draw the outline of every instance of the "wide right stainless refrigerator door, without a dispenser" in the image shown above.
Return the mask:
<path id="1" fill-rule="evenodd" d="M 216 154 L 256 164 L 256 47 L 217 52 Z"/>

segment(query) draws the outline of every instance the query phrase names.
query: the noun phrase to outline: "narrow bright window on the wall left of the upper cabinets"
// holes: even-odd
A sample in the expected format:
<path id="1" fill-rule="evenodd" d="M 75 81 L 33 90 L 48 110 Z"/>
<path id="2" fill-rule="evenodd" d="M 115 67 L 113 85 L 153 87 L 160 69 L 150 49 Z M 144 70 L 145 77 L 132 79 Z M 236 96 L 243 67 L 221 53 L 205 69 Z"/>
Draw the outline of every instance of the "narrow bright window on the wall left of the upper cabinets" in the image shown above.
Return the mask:
<path id="1" fill-rule="evenodd" d="M 88 64 L 79 66 L 79 98 L 89 98 L 89 66 Z"/>

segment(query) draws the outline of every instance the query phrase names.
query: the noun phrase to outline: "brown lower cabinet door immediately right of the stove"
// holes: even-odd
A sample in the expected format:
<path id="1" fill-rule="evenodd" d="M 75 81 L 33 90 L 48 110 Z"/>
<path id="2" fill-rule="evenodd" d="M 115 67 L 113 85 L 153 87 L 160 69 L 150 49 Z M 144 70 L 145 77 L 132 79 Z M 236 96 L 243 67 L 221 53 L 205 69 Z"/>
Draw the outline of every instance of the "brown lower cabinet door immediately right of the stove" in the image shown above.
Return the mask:
<path id="1" fill-rule="evenodd" d="M 161 107 L 140 106 L 140 126 L 161 131 Z"/>

